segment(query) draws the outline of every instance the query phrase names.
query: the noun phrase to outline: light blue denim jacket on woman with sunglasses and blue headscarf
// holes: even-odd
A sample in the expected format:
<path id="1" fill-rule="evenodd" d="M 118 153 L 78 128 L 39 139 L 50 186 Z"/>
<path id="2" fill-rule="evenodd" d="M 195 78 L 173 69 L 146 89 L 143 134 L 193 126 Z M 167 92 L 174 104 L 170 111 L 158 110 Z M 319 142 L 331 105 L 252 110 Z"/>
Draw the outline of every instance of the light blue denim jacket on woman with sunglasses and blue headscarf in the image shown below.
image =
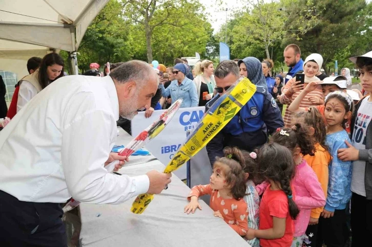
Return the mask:
<path id="1" fill-rule="evenodd" d="M 161 95 L 163 97 L 171 96 L 172 104 L 178 99 L 183 99 L 181 104 L 182 108 L 194 107 L 199 104 L 196 86 L 194 82 L 187 77 L 183 79 L 180 85 L 178 85 L 177 80 L 173 80 L 167 88 L 161 85 Z"/>

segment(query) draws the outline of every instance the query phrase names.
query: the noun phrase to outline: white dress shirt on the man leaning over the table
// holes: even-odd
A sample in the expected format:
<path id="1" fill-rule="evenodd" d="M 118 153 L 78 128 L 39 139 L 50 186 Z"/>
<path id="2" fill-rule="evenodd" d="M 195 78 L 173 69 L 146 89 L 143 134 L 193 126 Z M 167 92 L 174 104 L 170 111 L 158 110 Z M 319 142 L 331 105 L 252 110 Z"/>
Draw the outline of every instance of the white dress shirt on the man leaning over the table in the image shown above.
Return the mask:
<path id="1" fill-rule="evenodd" d="M 21 201 L 118 204 L 146 193 L 147 175 L 104 168 L 119 104 L 110 76 L 66 76 L 30 100 L 0 132 L 0 190 Z"/>

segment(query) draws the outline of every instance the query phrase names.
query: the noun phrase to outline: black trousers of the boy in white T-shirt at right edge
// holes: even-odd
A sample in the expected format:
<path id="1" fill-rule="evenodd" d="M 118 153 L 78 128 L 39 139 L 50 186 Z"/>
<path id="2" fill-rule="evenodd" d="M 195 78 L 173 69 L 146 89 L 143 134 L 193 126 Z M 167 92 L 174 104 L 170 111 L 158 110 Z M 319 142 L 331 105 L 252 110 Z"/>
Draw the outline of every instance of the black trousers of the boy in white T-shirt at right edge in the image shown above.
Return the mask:
<path id="1" fill-rule="evenodd" d="M 372 200 L 353 193 L 351 211 L 352 247 L 367 246 L 372 236 Z"/>

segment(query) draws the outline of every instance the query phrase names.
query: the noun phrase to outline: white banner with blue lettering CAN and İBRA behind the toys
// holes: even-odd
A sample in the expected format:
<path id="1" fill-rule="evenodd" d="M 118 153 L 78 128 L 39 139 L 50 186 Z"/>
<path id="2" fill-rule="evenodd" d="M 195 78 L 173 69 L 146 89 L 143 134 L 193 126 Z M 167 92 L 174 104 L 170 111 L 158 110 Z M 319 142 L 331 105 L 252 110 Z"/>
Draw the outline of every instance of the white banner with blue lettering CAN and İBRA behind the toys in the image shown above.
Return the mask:
<path id="1" fill-rule="evenodd" d="M 146 145 L 146 149 L 167 166 L 179 146 L 186 140 L 186 131 L 194 128 L 203 117 L 204 110 L 204 106 L 180 108 L 166 128 Z M 150 118 L 144 117 L 144 111 L 139 112 L 132 120 L 132 136 L 137 136 L 143 129 L 152 124 L 163 111 L 155 110 Z M 181 166 L 174 173 L 180 179 L 186 179 L 186 165 Z"/>

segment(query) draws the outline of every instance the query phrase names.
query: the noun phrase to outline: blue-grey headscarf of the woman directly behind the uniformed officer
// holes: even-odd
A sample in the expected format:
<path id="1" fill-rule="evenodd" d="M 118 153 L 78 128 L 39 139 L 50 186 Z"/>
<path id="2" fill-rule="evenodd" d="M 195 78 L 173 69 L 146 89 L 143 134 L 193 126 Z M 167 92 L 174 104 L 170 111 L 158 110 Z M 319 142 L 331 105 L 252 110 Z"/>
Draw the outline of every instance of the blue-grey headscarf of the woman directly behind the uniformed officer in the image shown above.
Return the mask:
<path id="1" fill-rule="evenodd" d="M 248 73 L 248 79 L 256 86 L 264 87 L 267 91 L 266 79 L 262 72 L 262 65 L 260 60 L 255 57 L 246 57 L 243 60 L 238 61 L 238 66 L 244 63 Z"/>

